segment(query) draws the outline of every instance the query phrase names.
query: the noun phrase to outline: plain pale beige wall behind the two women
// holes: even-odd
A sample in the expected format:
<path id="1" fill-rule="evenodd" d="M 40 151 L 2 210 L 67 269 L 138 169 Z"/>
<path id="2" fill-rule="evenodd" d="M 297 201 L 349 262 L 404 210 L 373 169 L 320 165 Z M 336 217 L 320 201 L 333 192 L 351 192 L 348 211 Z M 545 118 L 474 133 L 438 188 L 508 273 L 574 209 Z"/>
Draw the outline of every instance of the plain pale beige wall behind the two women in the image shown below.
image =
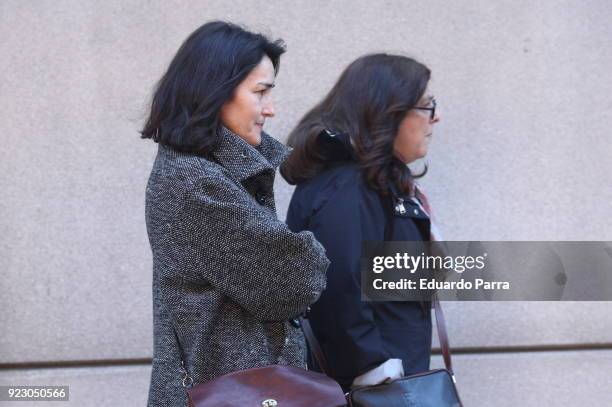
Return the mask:
<path id="1" fill-rule="evenodd" d="M 144 404 L 155 148 L 137 130 L 202 23 L 285 39 L 281 140 L 354 58 L 429 65 L 443 118 L 423 182 L 447 239 L 612 240 L 611 17 L 606 0 L 0 1 L 0 384 Z M 282 218 L 290 195 L 279 180 Z M 446 309 L 466 405 L 612 403 L 609 303 Z"/>

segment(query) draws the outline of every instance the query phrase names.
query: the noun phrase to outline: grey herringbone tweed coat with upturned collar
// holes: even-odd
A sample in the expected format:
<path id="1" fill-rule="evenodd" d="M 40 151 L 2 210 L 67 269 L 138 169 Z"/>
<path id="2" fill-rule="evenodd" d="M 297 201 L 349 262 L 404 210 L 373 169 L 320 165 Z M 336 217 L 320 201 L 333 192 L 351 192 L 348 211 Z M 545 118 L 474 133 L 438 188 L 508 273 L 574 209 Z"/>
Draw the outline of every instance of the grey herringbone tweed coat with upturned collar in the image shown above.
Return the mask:
<path id="1" fill-rule="evenodd" d="M 149 406 L 185 406 L 194 384 L 236 370 L 305 367 L 292 319 L 325 288 L 329 261 L 310 232 L 276 216 L 273 182 L 287 148 L 252 147 L 225 128 L 211 160 L 159 145 L 146 192 L 153 252 Z"/>

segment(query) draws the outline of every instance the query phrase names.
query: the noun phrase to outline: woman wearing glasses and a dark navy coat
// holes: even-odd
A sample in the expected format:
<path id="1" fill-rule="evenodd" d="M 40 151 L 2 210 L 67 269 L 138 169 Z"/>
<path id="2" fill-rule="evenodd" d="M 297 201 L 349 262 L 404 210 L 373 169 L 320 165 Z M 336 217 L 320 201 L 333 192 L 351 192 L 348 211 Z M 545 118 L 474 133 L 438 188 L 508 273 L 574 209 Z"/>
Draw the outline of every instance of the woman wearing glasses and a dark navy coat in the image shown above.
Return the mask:
<path id="1" fill-rule="evenodd" d="M 429 369 L 430 304 L 363 302 L 360 291 L 362 242 L 385 240 L 386 219 L 391 240 L 430 240 L 414 181 L 423 174 L 407 167 L 425 156 L 440 120 L 429 79 L 411 58 L 361 57 L 289 136 L 281 174 L 297 188 L 287 224 L 312 231 L 331 261 L 309 319 L 345 391 Z"/>

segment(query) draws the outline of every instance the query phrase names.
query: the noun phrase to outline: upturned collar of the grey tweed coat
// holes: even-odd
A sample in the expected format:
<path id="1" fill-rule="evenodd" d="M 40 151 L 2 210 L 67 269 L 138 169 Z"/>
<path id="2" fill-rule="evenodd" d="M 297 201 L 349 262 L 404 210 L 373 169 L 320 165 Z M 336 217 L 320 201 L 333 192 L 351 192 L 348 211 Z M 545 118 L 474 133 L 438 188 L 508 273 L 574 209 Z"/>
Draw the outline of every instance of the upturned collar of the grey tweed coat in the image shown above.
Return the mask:
<path id="1" fill-rule="evenodd" d="M 289 155 L 286 146 L 264 132 L 257 147 L 224 126 L 219 128 L 217 136 L 219 141 L 212 155 L 238 182 L 266 170 L 276 171 Z"/>

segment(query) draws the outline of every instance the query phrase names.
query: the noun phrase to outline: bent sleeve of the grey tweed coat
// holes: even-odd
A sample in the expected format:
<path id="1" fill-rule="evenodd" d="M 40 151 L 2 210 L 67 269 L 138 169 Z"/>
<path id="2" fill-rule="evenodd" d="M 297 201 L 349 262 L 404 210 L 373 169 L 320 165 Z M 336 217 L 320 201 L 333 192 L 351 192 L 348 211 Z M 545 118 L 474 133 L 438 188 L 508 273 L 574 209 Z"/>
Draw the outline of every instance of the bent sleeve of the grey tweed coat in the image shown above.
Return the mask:
<path id="1" fill-rule="evenodd" d="M 294 318 L 325 288 L 329 261 L 312 233 L 293 233 L 273 211 L 218 177 L 188 190 L 175 264 L 262 321 Z"/>

